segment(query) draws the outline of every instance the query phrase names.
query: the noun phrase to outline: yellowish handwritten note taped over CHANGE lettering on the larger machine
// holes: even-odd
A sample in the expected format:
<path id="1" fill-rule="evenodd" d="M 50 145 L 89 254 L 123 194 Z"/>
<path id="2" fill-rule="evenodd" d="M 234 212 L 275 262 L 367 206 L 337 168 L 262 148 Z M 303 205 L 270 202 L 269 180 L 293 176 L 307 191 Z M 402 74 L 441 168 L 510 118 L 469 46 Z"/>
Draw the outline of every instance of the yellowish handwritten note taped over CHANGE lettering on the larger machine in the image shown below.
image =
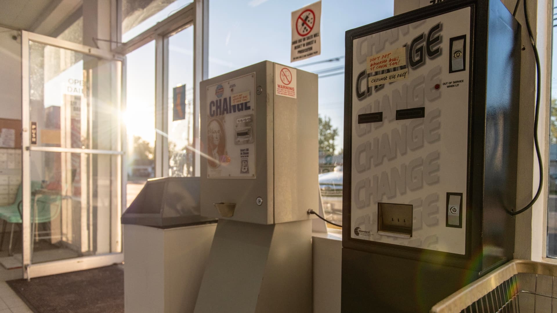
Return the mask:
<path id="1" fill-rule="evenodd" d="M 400 47 L 367 57 L 368 86 L 386 84 L 408 77 L 406 48 Z"/>

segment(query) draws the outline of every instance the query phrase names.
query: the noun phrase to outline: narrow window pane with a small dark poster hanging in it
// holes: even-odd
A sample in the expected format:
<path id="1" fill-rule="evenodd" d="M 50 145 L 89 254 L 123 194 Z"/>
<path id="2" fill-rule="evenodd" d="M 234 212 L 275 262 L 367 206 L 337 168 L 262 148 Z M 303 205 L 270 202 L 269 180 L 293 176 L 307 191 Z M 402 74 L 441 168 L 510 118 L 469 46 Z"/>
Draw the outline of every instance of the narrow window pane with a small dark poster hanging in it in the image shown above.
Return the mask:
<path id="1" fill-rule="evenodd" d="M 193 26 L 168 38 L 168 175 L 194 175 Z"/>

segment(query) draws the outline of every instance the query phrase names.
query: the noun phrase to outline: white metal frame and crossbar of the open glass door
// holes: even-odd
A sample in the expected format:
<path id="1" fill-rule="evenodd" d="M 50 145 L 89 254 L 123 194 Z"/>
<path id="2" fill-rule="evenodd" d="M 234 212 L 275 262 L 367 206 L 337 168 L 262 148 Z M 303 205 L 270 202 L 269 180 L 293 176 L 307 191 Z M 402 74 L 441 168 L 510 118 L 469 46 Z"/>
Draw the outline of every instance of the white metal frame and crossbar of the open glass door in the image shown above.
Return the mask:
<path id="1" fill-rule="evenodd" d="M 54 275 L 57 273 L 72 272 L 77 270 L 86 270 L 88 268 L 95 268 L 101 266 L 108 266 L 114 263 L 121 263 L 124 261 L 124 254 L 122 252 L 122 226 L 120 223 L 120 216 L 122 208 L 126 206 L 125 184 L 122 184 L 123 178 L 126 173 L 126 164 L 123 162 L 123 155 L 125 154 L 125 125 L 120 124 L 120 136 L 116 143 L 119 147 L 118 150 L 97 150 L 97 149 L 79 149 L 79 148 L 57 148 L 57 147 L 41 147 L 31 145 L 31 115 L 30 115 L 30 51 L 29 42 L 33 41 L 43 45 L 63 48 L 84 55 L 102 58 L 108 61 L 120 61 L 121 66 L 116 71 L 119 71 L 120 80 L 116 82 L 119 85 L 116 88 L 116 104 L 120 110 L 125 109 L 125 88 L 123 88 L 123 71 L 125 70 L 125 57 L 118 53 L 113 53 L 106 50 L 80 45 L 70 41 L 60 40 L 53 37 L 39 35 L 32 32 L 21 32 L 21 69 L 22 69 L 22 199 L 23 199 L 23 219 L 22 219 L 22 269 L 23 278 L 30 279 L 32 277 L 40 277 L 46 275 Z M 49 151 L 49 152 L 65 152 L 65 153 L 89 153 L 89 154 L 108 154 L 118 155 L 118 172 L 116 174 L 116 183 L 120 184 L 117 188 L 117 196 L 120 197 L 120 202 L 116 206 L 116 212 L 111 212 L 112 221 L 110 224 L 110 239 L 111 246 L 113 247 L 111 253 L 98 256 L 85 256 L 71 258 L 67 260 L 58 260 L 51 262 L 43 262 L 32 264 L 31 262 L 31 151 Z"/>

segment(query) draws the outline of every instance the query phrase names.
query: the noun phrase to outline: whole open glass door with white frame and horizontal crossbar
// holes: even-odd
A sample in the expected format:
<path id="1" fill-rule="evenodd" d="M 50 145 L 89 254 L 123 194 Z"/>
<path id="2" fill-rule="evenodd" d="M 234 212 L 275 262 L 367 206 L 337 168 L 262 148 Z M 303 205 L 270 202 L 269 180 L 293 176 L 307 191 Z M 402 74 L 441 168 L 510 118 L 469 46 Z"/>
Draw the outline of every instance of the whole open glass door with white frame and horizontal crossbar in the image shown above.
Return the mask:
<path id="1" fill-rule="evenodd" d="M 27 278 L 123 261 L 123 58 L 22 32 Z"/>

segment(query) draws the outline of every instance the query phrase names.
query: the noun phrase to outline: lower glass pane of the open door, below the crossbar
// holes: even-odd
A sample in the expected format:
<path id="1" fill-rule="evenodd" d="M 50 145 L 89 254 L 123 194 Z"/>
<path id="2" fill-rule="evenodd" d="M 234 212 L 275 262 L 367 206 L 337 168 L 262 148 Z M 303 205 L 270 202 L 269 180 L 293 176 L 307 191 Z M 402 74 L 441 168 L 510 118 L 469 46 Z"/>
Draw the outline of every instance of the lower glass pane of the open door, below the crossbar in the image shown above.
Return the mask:
<path id="1" fill-rule="evenodd" d="M 119 158 L 31 151 L 32 263 L 119 252 L 110 237 L 119 220 Z"/>

